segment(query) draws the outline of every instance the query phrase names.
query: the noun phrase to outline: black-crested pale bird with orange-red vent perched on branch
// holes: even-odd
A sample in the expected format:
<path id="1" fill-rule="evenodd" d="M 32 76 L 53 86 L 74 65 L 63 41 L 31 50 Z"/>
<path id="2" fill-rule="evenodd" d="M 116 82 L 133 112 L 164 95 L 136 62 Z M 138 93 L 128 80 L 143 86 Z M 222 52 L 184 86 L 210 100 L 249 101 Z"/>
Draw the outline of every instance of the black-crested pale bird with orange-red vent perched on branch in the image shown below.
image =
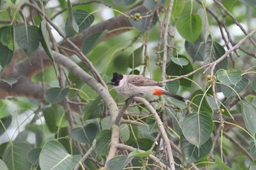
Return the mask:
<path id="1" fill-rule="evenodd" d="M 141 75 L 124 75 L 113 72 L 113 78 L 107 84 L 112 85 L 113 89 L 116 90 L 117 93 L 123 96 L 128 96 L 129 98 L 134 96 L 154 98 L 154 96 L 166 95 L 186 103 L 188 101 L 187 98 L 165 90 L 165 88 L 161 87 L 159 82 Z"/>

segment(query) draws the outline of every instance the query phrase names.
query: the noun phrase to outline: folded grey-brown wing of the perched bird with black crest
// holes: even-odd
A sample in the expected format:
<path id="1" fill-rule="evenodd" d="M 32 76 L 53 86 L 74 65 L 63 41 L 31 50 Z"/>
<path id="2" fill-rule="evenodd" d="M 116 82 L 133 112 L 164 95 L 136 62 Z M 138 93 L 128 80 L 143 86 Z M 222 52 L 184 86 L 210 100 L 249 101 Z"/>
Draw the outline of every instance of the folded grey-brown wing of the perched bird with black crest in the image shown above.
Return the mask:
<path id="1" fill-rule="evenodd" d="M 140 75 L 129 75 L 128 83 L 135 86 L 159 86 L 159 82 Z"/>

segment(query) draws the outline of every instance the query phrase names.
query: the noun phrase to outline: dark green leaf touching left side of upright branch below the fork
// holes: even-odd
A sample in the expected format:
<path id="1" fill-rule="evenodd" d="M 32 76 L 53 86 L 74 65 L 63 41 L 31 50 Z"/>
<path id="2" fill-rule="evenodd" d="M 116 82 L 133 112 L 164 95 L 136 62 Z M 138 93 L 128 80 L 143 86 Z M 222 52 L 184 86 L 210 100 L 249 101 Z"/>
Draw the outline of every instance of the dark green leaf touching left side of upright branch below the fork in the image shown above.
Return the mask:
<path id="1" fill-rule="evenodd" d="M 105 129 L 99 132 L 96 140 L 97 155 L 108 155 L 109 144 L 111 140 L 111 131 Z"/>

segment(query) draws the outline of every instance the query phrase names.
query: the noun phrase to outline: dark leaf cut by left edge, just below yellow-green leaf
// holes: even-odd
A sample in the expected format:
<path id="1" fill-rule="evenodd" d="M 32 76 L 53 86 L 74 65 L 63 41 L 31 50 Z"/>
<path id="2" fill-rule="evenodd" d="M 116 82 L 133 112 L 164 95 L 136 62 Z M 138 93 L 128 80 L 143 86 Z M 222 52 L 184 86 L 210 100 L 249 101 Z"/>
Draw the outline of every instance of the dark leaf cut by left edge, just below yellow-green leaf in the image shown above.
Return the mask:
<path id="1" fill-rule="evenodd" d="M 13 51 L 0 43 L 0 64 L 2 69 L 5 69 L 12 61 Z"/>

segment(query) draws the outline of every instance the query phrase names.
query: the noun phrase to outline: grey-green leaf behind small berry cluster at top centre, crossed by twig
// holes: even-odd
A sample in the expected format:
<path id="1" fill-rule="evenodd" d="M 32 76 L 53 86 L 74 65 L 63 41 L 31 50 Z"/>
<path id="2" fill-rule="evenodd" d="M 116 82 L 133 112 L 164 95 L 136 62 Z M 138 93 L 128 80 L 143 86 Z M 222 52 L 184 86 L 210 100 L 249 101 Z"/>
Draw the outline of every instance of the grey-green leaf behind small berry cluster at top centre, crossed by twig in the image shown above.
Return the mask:
<path id="1" fill-rule="evenodd" d="M 146 15 L 150 15 L 150 12 L 149 13 L 146 13 L 146 12 L 141 12 L 141 11 L 138 11 L 138 12 L 132 12 L 131 15 L 135 15 L 135 13 L 140 13 L 141 16 L 146 16 Z M 143 18 L 142 20 L 139 20 L 139 21 L 135 21 L 134 19 L 129 19 L 129 23 L 131 23 L 131 25 L 135 28 L 137 28 L 138 30 L 140 30 L 140 32 L 144 32 L 147 30 L 148 28 L 148 23 L 150 23 L 149 21 L 151 20 L 151 17 L 147 17 L 147 18 Z M 157 19 L 157 13 L 155 13 L 153 15 L 153 19 L 152 19 L 152 23 L 151 23 L 151 26 L 150 28 L 153 28 L 156 23 L 157 23 L 158 19 Z"/>

